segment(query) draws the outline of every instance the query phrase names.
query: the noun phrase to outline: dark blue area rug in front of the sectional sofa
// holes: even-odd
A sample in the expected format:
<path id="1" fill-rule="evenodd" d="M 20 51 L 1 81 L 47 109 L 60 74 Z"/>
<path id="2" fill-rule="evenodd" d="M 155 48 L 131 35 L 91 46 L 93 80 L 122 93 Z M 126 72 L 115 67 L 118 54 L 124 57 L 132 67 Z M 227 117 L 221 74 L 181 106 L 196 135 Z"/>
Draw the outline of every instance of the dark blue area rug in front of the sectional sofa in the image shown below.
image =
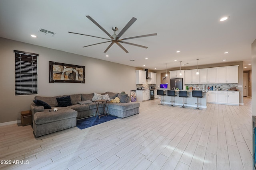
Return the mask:
<path id="1" fill-rule="evenodd" d="M 116 119 L 116 118 L 118 118 L 118 117 L 112 116 L 112 115 L 107 115 L 107 117 L 102 116 L 102 117 L 100 117 L 100 119 L 99 119 L 98 115 L 96 117 L 92 116 L 92 117 L 77 120 L 76 121 L 76 127 L 78 127 L 79 129 L 85 129 L 87 127 L 98 125 L 100 123 L 104 123 L 106 121 L 110 121 L 110 120 L 113 120 L 113 119 Z"/>

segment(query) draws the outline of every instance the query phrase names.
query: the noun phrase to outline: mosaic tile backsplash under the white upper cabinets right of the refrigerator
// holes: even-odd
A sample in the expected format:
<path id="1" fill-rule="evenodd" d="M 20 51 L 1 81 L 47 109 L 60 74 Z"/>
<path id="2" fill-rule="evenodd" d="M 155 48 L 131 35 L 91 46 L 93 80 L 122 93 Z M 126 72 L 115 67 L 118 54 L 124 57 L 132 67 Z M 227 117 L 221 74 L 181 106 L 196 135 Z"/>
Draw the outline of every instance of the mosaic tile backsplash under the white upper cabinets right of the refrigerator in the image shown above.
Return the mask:
<path id="1" fill-rule="evenodd" d="M 194 88 L 199 88 L 200 90 L 204 90 L 204 86 L 206 87 L 206 90 L 209 87 L 212 87 L 213 86 L 213 90 L 216 86 L 217 90 L 218 90 L 218 87 L 220 86 L 220 88 L 222 90 L 228 90 L 230 89 L 231 87 L 236 87 L 238 88 L 238 84 L 237 83 L 230 83 L 230 84 L 185 84 L 185 86 L 188 86 L 189 87 L 192 87 L 193 89 Z"/>

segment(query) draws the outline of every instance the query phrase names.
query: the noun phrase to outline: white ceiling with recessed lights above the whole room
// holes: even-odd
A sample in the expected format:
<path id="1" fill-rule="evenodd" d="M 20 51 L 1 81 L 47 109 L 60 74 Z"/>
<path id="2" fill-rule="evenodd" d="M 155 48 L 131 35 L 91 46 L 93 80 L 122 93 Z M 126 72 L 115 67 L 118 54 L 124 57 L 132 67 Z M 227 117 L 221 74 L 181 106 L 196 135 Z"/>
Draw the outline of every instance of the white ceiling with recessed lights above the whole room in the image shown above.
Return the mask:
<path id="1" fill-rule="evenodd" d="M 109 38 L 87 15 L 111 35 L 112 27 L 118 27 L 118 34 L 132 17 L 137 18 L 121 38 L 157 35 L 126 40 L 148 47 L 122 44 L 129 53 L 116 44 L 103 53 L 110 43 L 82 48 L 107 40 L 68 31 Z M 220 21 L 223 16 L 230 18 Z M 39 28 L 56 35 L 38 32 Z M 244 70 L 250 70 L 256 1 L 0 0 L 0 37 L 150 70 L 165 70 L 165 63 L 167 68 L 179 67 L 179 61 L 196 68 L 196 59 L 199 65 L 244 61 Z"/>

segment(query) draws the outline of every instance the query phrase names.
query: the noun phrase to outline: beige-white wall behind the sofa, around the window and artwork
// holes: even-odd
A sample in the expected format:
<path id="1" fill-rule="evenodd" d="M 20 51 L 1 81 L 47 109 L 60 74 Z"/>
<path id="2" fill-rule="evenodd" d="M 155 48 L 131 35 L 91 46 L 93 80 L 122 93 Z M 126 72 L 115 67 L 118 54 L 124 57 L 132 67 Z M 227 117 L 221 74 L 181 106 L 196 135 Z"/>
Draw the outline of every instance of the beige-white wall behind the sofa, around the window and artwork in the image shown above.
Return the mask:
<path id="1" fill-rule="evenodd" d="M 0 123 L 20 119 L 35 95 L 15 96 L 14 50 L 39 54 L 38 96 L 125 91 L 136 88 L 135 67 L 112 63 L 0 37 Z M 85 66 L 85 84 L 49 83 L 49 61 Z"/>

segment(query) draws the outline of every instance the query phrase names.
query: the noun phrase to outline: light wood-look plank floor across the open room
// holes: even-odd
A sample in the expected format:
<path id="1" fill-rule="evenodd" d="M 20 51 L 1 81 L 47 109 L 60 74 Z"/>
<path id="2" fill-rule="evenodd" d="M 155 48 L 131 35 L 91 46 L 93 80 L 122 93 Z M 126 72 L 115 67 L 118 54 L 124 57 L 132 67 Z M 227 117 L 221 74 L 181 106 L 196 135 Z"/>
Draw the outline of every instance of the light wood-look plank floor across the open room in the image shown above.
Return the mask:
<path id="1" fill-rule="evenodd" d="M 0 127 L 0 169 L 252 170 L 251 98 L 199 111 L 159 103 L 141 102 L 137 115 L 40 138 L 31 126 Z"/>

